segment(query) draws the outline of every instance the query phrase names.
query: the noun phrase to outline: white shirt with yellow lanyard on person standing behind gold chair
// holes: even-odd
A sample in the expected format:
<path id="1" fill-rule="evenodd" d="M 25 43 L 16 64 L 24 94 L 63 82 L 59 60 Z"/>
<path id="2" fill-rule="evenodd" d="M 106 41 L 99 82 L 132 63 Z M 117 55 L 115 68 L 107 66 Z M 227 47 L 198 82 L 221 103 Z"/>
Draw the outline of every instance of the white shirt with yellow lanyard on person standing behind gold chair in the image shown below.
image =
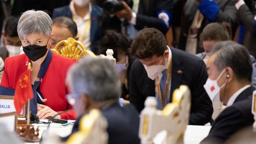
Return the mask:
<path id="1" fill-rule="evenodd" d="M 91 20 L 91 11 L 92 11 L 91 3 L 89 2 L 89 11 L 83 18 L 77 15 L 73 1 L 70 2 L 69 7 L 72 13 L 72 19 L 74 20 L 74 22 L 76 22 L 76 25 L 77 25 L 77 32 L 79 37 L 78 41 L 81 41 L 83 43 L 86 50 L 91 50 L 91 39 L 90 39 L 91 23 L 89 25 L 87 24 L 87 22 Z M 85 28 L 87 30 L 85 30 Z"/>

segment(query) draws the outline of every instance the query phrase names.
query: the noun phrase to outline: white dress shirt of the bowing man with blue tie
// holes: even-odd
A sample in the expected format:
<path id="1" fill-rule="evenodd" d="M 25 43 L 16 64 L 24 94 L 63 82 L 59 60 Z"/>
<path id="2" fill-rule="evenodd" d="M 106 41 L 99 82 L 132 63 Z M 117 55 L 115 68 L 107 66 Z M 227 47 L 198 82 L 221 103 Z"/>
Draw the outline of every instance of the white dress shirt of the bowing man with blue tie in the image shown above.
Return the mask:
<path id="1" fill-rule="evenodd" d="M 166 63 L 166 65 L 165 65 L 165 73 L 166 73 L 166 76 L 167 76 L 167 74 L 168 74 L 169 64 L 170 64 L 171 59 L 172 59 L 172 51 L 171 51 L 171 49 L 169 48 L 169 46 L 167 46 L 167 48 L 168 48 L 168 50 L 169 50 L 169 56 L 168 56 L 168 59 L 167 59 L 167 63 Z M 160 74 L 158 75 L 159 82 L 160 82 L 162 76 L 163 76 L 162 73 L 160 73 Z M 169 79 L 169 85 L 168 85 L 168 91 L 167 91 L 167 103 L 169 103 L 169 101 L 170 101 L 171 80 L 172 80 L 172 74 L 171 74 L 170 79 Z M 155 94 L 156 94 L 155 96 L 156 96 L 156 100 L 157 100 L 157 98 L 158 98 L 158 90 L 157 90 L 157 86 L 156 86 L 156 81 L 155 81 Z"/>

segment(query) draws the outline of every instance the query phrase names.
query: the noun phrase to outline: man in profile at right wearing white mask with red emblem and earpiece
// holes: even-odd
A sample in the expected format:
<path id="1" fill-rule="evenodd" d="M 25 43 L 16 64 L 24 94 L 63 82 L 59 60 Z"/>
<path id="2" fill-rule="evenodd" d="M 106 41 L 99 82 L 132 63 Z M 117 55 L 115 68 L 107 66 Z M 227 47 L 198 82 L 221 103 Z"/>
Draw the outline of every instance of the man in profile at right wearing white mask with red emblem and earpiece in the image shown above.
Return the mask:
<path id="1" fill-rule="evenodd" d="M 248 50 L 235 42 L 218 42 L 207 63 L 208 80 L 204 85 L 212 100 L 223 102 L 226 109 L 213 123 L 202 144 L 224 143 L 232 134 L 252 126 L 252 63 Z M 251 131 L 252 132 L 252 131 Z"/>

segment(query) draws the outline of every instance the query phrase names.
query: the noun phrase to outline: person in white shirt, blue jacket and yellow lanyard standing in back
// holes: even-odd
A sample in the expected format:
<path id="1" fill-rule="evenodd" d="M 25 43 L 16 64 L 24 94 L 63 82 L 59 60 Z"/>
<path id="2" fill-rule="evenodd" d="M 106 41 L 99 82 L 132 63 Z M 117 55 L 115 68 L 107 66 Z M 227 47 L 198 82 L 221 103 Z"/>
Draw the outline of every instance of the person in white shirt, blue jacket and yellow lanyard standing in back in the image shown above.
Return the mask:
<path id="1" fill-rule="evenodd" d="M 78 41 L 87 50 L 98 54 L 97 42 L 102 37 L 100 17 L 102 8 L 91 4 L 90 0 L 72 0 L 69 5 L 54 9 L 52 18 L 69 17 L 76 22 Z"/>

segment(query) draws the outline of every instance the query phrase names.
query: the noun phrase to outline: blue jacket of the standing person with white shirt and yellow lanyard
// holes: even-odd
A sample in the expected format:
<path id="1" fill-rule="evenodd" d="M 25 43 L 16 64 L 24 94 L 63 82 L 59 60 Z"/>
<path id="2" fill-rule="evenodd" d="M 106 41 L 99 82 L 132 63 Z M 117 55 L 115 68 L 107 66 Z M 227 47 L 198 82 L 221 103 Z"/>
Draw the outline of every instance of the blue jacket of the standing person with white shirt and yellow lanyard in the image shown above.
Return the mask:
<path id="1" fill-rule="evenodd" d="M 91 51 L 98 54 L 97 42 L 102 37 L 102 30 L 99 26 L 99 19 L 102 15 L 102 8 L 94 4 L 91 5 L 91 29 L 90 29 L 90 39 L 91 39 Z M 68 6 L 59 7 L 53 10 L 52 19 L 56 17 L 69 17 L 72 19 L 72 13 Z"/>

